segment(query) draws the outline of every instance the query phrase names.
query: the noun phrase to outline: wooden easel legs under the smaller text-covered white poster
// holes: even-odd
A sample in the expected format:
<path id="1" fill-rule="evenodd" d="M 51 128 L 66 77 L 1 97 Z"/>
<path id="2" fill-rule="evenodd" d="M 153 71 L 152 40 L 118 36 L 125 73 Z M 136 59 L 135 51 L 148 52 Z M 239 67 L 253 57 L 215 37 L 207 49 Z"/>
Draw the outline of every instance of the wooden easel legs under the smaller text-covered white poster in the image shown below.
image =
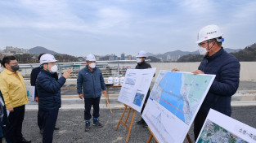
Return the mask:
<path id="1" fill-rule="evenodd" d="M 135 116 L 136 111 L 135 111 L 132 107 L 130 107 L 130 106 L 128 106 L 128 105 L 125 105 L 125 104 L 124 104 L 124 106 L 125 106 L 125 107 L 124 107 L 123 114 L 122 114 L 122 116 L 121 116 L 121 118 L 120 118 L 120 120 L 119 120 L 119 124 L 116 126 L 115 130 L 119 129 L 119 125 L 120 125 L 120 124 L 124 124 L 124 127 L 128 129 L 128 134 L 127 134 L 127 137 L 126 137 L 126 140 L 125 140 L 126 142 L 128 142 L 128 141 L 129 141 L 129 137 L 130 137 L 130 133 L 131 133 L 131 130 L 132 130 L 133 119 L 134 119 L 134 116 Z M 123 122 L 122 119 L 123 119 L 123 117 L 124 117 L 124 113 L 125 113 L 127 107 L 129 107 L 128 114 L 126 115 L 126 119 L 125 119 L 125 121 Z M 131 119 L 130 125 L 128 126 L 126 123 L 127 123 L 127 120 L 128 120 L 128 117 L 129 117 L 129 115 L 130 115 L 131 110 L 133 111 L 133 113 L 132 113 L 132 119 Z"/>

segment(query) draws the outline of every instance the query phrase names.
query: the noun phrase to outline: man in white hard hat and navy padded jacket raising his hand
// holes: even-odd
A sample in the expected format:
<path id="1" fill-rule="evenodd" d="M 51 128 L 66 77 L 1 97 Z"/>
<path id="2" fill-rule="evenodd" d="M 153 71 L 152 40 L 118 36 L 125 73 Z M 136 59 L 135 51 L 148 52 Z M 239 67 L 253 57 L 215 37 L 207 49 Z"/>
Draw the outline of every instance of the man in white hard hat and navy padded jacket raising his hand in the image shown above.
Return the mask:
<path id="1" fill-rule="evenodd" d="M 38 114 L 43 120 L 43 143 L 51 143 L 59 108 L 61 108 L 61 87 L 71 75 L 72 70 L 68 69 L 56 80 L 54 75 L 58 67 L 54 56 L 43 54 L 40 64 L 43 69 L 39 72 L 36 80 L 39 98 Z"/>

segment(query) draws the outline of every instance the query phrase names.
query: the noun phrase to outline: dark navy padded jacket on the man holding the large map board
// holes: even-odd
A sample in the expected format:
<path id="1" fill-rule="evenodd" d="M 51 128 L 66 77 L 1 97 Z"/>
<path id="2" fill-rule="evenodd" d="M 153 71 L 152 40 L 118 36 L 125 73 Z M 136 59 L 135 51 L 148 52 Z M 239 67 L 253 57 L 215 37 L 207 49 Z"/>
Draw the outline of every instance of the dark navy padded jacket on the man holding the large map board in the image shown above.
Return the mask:
<path id="1" fill-rule="evenodd" d="M 209 109 L 231 116 L 231 96 L 239 85 L 240 63 L 233 55 L 221 49 L 210 57 L 204 57 L 199 70 L 205 74 L 216 75 L 199 114 L 207 115 Z"/>

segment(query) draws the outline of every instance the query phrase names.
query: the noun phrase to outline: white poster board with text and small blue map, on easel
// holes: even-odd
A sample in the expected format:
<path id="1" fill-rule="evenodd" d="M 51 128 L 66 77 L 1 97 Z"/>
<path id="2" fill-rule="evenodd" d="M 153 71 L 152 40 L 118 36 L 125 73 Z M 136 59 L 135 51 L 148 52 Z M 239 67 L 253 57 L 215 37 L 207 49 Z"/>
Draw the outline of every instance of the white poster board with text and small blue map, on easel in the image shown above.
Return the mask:
<path id="1" fill-rule="evenodd" d="M 155 74 L 155 69 L 156 68 L 128 69 L 119 93 L 118 101 L 141 112 L 146 93 L 150 89 L 150 84 Z"/>

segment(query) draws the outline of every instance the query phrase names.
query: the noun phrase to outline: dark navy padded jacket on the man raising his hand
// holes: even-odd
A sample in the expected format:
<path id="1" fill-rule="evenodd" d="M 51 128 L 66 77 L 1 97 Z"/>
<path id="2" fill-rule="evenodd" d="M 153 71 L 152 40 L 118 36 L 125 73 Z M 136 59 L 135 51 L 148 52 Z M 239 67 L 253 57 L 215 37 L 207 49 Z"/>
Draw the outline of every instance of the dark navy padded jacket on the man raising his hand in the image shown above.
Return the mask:
<path id="1" fill-rule="evenodd" d="M 65 84 L 65 77 L 56 80 L 54 74 L 41 70 L 36 80 L 38 90 L 39 110 L 56 111 L 61 107 L 61 87 Z"/>

